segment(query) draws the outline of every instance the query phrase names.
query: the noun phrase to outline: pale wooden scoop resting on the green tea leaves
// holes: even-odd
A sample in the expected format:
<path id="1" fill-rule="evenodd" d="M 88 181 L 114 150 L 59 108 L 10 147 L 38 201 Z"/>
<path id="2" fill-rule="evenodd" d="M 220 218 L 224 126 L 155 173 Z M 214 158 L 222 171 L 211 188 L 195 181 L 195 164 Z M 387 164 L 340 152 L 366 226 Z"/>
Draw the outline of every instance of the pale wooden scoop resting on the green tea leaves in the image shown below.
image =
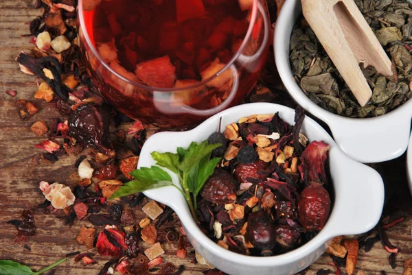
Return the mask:
<path id="1" fill-rule="evenodd" d="M 306 21 L 361 106 L 372 91 L 362 73 L 371 65 L 393 75 L 391 60 L 353 0 L 301 0 Z"/>

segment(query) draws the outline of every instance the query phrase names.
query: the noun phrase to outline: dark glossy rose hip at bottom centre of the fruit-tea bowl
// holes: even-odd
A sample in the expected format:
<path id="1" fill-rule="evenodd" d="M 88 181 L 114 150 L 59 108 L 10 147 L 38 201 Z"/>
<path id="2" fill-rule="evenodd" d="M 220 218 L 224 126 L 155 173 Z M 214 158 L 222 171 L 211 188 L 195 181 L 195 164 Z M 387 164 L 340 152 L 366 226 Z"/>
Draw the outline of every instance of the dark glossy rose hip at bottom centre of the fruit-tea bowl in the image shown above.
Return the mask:
<path id="1" fill-rule="evenodd" d="M 255 248 L 272 250 L 276 244 L 275 224 L 264 211 L 256 211 L 247 220 L 247 237 Z"/>

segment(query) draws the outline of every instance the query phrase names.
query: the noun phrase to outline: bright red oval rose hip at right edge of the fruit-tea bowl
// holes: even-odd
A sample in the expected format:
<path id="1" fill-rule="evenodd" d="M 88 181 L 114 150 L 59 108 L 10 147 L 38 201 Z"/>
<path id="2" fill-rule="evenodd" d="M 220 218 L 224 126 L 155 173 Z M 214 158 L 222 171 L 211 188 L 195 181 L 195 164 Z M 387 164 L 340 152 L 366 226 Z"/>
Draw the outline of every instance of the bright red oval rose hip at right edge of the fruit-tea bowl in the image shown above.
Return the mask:
<path id="1" fill-rule="evenodd" d="M 321 230 L 328 220 L 330 196 L 320 184 L 311 184 L 301 192 L 297 211 L 306 230 Z"/>

